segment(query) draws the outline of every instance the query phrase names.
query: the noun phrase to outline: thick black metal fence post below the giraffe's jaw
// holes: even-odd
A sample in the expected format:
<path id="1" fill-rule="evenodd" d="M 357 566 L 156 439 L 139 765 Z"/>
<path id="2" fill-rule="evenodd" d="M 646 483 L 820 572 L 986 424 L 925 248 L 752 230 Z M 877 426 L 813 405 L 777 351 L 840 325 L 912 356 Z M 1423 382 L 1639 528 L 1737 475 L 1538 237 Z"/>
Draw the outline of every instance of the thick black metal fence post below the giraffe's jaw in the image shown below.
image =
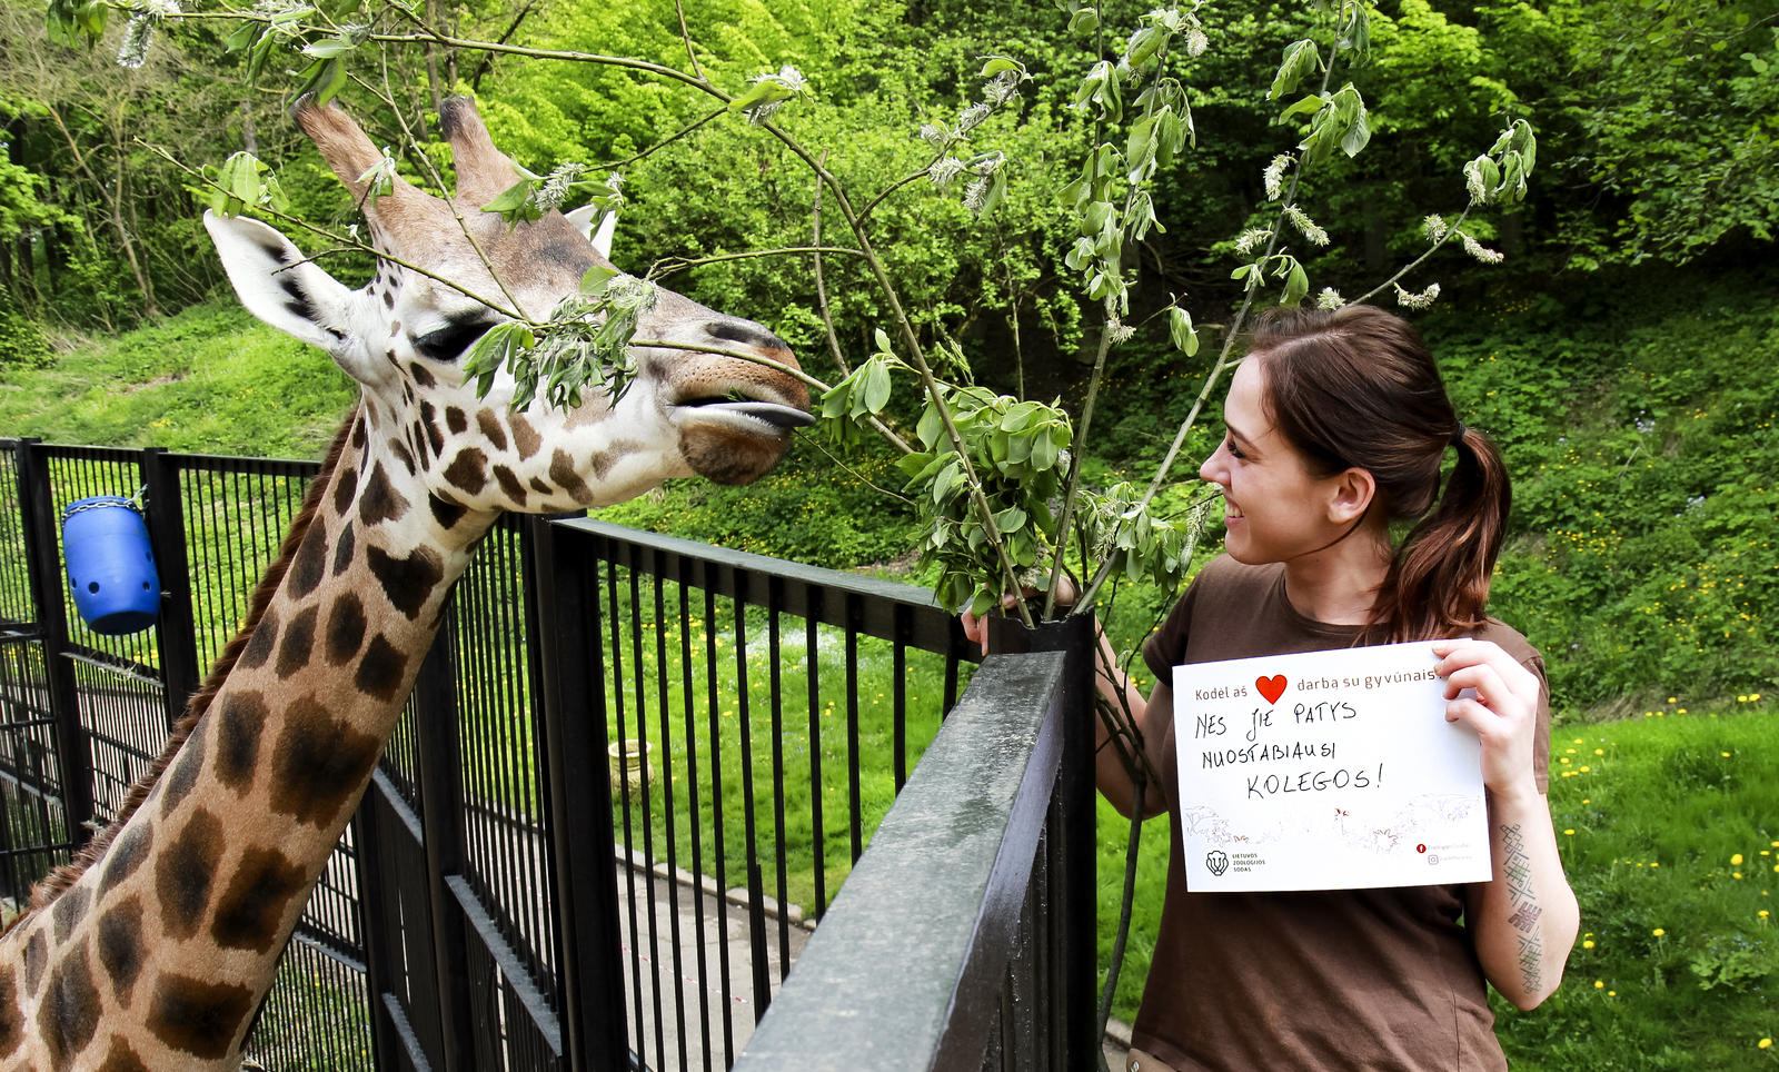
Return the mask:
<path id="1" fill-rule="evenodd" d="M 623 931 L 612 862 L 612 782 L 607 769 L 605 664 L 600 584 L 591 554 L 557 556 L 560 531 L 525 518 L 528 598 L 543 680 L 544 798 L 550 876 L 560 949 L 559 983 L 568 1067 L 630 1068 Z"/>

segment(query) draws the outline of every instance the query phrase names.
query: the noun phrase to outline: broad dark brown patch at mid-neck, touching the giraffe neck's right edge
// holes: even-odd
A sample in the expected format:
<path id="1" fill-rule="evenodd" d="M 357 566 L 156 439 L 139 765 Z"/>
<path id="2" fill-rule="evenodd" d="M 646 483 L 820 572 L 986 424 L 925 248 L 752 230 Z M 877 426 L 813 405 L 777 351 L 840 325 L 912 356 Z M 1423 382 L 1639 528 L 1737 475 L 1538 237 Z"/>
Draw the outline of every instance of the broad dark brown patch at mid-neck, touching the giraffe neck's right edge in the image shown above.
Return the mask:
<path id="1" fill-rule="evenodd" d="M 382 741 L 334 718 L 313 696 L 286 712 L 272 751 L 272 810 L 326 828 L 370 776 Z"/>

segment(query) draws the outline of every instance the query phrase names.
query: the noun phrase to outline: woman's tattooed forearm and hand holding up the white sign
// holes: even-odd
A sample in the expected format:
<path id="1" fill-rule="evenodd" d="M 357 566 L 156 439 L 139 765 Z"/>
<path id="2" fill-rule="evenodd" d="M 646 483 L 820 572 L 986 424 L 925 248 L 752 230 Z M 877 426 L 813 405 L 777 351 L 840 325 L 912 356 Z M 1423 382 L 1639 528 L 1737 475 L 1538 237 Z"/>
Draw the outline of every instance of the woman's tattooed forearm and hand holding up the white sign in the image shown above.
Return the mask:
<path id="1" fill-rule="evenodd" d="M 1539 678 L 1487 641 L 1441 641 L 1446 719 L 1482 743 L 1489 796 L 1491 881 L 1469 887 L 1466 924 L 1489 983 L 1523 1010 L 1557 990 L 1580 928 L 1580 910 L 1557 855 L 1550 803 L 1537 787 Z M 1461 696 L 1475 689 L 1473 696 Z"/>

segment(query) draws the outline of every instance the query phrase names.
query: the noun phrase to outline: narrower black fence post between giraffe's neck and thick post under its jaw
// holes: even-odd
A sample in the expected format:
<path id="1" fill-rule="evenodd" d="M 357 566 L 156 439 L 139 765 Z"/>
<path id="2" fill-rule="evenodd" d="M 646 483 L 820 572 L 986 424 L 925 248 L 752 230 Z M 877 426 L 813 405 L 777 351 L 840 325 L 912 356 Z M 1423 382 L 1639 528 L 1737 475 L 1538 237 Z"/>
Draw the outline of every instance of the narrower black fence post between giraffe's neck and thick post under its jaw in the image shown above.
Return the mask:
<path id="1" fill-rule="evenodd" d="M 415 682 L 415 746 L 420 776 L 420 823 L 427 853 L 427 899 L 432 905 L 432 970 L 438 979 L 441 1065 L 447 1072 L 475 1065 L 468 949 L 463 905 L 445 885 L 464 869 L 463 751 L 457 718 L 455 597 L 420 664 Z"/>

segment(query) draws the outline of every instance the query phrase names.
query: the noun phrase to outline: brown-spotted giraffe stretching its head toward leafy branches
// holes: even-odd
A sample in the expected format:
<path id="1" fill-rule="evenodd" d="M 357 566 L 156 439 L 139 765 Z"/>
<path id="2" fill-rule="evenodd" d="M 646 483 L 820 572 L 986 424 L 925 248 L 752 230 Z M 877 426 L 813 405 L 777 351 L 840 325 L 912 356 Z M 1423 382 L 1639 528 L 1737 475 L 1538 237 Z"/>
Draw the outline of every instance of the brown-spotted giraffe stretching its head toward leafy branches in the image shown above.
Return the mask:
<path id="1" fill-rule="evenodd" d="M 382 153 L 334 105 L 304 100 L 294 118 L 363 203 L 361 176 Z M 439 119 L 480 255 L 450 203 L 407 183 L 365 205 L 374 246 L 495 294 L 486 255 L 521 312 L 543 319 L 608 262 L 560 214 L 511 230 L 482 214 L 514 182 L 512 162 L 470 100 L 447 102 Z M 457 367 L 496 322 L 487 306 L 381 258 L 375 280 L 349 290 L 263 223 L 205 223 L 242 303 L 327 349 L 361 399 L 160 760 L 0 937 L 7 1072 L 238 1067 L 450 586 L 498 513 L 600 506 L 694 474 L 749 483 L 813 420 L 792 376 L 664 345 L 637 349 L 616 402 L 514 411 L 511 381 L 477 399 Z M 795 367 L 760 324 L 678 294 L 662 292 L 640 331 Z"/>

